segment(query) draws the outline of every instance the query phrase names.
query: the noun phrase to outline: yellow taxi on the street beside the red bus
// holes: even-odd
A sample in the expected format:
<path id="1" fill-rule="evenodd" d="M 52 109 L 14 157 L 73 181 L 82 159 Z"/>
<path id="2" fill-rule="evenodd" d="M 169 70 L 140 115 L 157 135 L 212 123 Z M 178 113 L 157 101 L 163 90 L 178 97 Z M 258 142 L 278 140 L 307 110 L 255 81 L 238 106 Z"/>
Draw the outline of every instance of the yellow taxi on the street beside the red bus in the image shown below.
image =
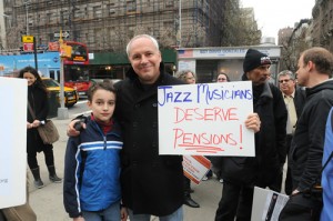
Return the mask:
<path id="1" fill-rule="evenodd" d="M 51 78 L 42 78 L 43 83 L 48 88 L 49 91 L 58 92 L 58 98 L 60 98 L 60 83 Z M 75 89 L 64 87 L 64 106 L 72 107 L 79 101 L 79 96 Z M 60 101 L 59 101 L 60 102 Z"/>

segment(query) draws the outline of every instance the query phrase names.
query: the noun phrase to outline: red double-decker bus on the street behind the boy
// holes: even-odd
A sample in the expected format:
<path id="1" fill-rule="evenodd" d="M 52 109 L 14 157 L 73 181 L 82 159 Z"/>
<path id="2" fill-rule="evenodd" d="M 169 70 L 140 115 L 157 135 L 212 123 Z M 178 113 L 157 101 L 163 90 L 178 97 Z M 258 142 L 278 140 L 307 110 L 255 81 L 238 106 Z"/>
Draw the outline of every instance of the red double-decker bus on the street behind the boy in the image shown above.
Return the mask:
<path id="1" fill-rule="evenodd" d="M 71 58 L 63 60 L 64 86 L 77 89 L 79 96 L 87 96 L 89 81 L 89 50 L 84 43 L 64 41 L 72 47 Z"/>

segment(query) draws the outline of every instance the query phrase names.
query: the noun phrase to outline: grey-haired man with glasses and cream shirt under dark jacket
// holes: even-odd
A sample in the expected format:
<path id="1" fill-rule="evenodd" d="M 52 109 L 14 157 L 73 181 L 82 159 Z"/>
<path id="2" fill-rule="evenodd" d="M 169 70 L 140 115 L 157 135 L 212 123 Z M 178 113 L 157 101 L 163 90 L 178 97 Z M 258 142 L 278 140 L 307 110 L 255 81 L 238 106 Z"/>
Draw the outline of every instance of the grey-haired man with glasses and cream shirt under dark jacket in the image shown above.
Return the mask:
<path id="1" fill-rule="evenodd" d="M 295 77 L 293 72 L 291 72 L 290 70 L 281 71 L 278 74 L 278 81 L 287 110 L 285 145 L 286 145 L 286 155 L 289 155 L 291 141 L 296 129 L 296 122 L 297 119 L 301 117 L 305 103 L 305 89 L 296 84 Z M 284 181 L 284 192 L 290 195 L 292 193 L 293 183 L 291 179 L 291 170 L 289 163 L 286 168 L 287 169 L 286 169 L 286 175 Z M 283 180 L 283 172 L 281 172 L 280 179 L 278 179 L 276 183 L 274 183 L 276 190 L 281 190 L 282 180 Z"/>

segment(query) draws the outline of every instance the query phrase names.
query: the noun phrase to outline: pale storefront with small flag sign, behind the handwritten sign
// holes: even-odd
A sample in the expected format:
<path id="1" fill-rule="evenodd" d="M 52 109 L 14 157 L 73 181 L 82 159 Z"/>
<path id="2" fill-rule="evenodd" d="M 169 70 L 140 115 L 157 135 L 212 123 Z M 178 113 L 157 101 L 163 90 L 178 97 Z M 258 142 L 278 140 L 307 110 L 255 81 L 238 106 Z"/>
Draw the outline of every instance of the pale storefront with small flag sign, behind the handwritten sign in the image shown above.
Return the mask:
<path id="1" fill-rule="evenodd" d="M 279 73 L 281 48 L 278 46 L 181 48 L 178 49 L 178 70 L 190 69 L 196 73 L 198 82 L 215 82 L 219 72 L 225 72 L 232 81 L 241 80 L 243 60 L 249 48 L 268 54 L 272 60 L 271 79 Z"/>

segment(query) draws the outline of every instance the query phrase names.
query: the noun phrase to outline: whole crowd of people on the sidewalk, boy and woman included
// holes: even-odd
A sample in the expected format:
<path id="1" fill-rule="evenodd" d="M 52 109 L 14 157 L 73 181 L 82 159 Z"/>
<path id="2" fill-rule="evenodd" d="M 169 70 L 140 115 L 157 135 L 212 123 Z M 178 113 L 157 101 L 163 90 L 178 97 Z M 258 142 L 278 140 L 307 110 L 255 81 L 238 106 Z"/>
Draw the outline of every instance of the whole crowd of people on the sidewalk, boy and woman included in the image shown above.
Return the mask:
<path id="1" fill-rule="evenodd" d="M 191 198 L 182 155 L 159 154 L 158 87 L 194 84 L 196 77 L 192 70 L 175 77 L 164 72 L 159 43 L 148 34 L 132 38 L 127 54 L 131 63 L 127 79 L 114 86 L 101 82 L 91 87 L 91 115 L 68 125 L 64 208 L 74 221 L 128 217 L 131 221 L 149 221 L 151 215 L 161 221 L 182 221 L 183 204 L 200 204 Z M 290 195 L 281 221 L 333 220 L 324 212 L 332 207 L 327 200 L 331 195 L 325 194 L 330 185 L 321 185 L 324 147 L 331 142 L 325 133 L 333 107 L 333 56 L 319 47 L 303 51 L 295 74 L 289 70 L 278 74 L 279 87 L 269 81 L 271 64 L 268 54 L 246 51 L 242 81 L 252 82 L 253 113 L 244 125 L 254 132 L 255 157 L 211 159 L 213 172 L 223 183 L 214 220 L 250 221 L 254 187 Z M 21 70 L 20 78 L 28 80 L 27 152 L 34 185 L 43 187 L 36 159 L 41 151 L 50 180 L 62 182 L 56 173 L 52 145 L 42 143 L 37 132 L 47 119 L 47 90 L 32 68 Z M 215 81 L 231 80 L 220 72 Z M 331 160 L 329 153 L 325 160 Z M 331 168 L 323 174 L 331 175 Z M 330 180 L 324 179 L 325 183 Z"/>

